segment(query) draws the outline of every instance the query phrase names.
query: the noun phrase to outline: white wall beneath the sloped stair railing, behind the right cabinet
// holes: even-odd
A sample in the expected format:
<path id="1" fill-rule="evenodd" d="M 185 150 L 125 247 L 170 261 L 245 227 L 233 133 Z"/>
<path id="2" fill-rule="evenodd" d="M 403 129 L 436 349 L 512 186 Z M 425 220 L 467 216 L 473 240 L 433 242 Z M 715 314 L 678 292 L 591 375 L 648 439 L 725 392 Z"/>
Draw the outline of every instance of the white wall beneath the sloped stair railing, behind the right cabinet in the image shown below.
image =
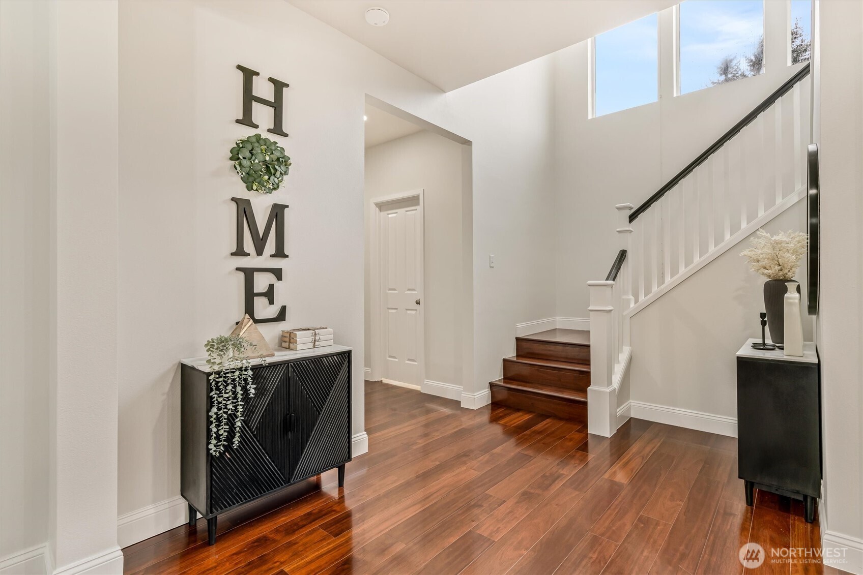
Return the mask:
<path id="1" fill-rule="evenodd" d="M 805 229 L 801 201 L 765 225 L 771 234 Z M 749 236 L 632 317 L 632 401 L 727 418 L 716 428 L 736 428 L 735 353 L 760 337 L 765 279 L 749 271 L 740 252 Z M 797 272 L 806 301 L 806 266 Z M 812 341 L 812 319 L 803 310 L 803 339 Z M 770 337 L 770 334 L 767 334 Z M 733 420 L 733 421 L 732 421 Z M 679 423 L 678 423 L 679 424 Z M 702 422 L 710 425 L 709 422 Z"/>

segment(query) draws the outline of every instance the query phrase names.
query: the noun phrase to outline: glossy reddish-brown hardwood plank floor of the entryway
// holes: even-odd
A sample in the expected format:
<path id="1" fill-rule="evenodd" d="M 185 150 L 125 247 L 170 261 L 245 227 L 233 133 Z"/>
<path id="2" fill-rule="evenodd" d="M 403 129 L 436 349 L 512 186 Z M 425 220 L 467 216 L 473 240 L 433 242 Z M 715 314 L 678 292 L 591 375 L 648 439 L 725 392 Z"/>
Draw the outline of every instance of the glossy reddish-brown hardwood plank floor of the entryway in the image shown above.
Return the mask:
<path id="1" fill-rule="evenodd" d="M 772 547 L 820 547 L 799 502 L 746 507 L 736 440 L 630 420 L 608 439 L 579 423 L 499 406 L 461 409 L 366 383 L 369 453 L 218 520 L 123 549 L 127 573 L 839 573 L 772 563 Z M 302 495 L 300 493 L 299 495 Z"/>

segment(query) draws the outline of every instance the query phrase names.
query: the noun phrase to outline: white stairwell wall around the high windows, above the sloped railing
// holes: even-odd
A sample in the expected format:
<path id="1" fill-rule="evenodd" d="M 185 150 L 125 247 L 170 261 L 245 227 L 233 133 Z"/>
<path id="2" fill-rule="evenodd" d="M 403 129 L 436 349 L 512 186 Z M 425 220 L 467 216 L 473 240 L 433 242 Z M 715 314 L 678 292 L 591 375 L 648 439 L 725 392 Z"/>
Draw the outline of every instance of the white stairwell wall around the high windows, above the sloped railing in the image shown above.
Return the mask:
<path id="1" fill-rule="evenodd" d="M 765 73 L 674 96 L 675 9 L 658 18 L 658 102 L 588 118 L 588 42 L 555 54 L 557 316 L 588 316 L 587 282 L 618 250 L 614 205 L 644 202 L 801 66 L 786 66 L 787 3 L 765 2 Z"/>

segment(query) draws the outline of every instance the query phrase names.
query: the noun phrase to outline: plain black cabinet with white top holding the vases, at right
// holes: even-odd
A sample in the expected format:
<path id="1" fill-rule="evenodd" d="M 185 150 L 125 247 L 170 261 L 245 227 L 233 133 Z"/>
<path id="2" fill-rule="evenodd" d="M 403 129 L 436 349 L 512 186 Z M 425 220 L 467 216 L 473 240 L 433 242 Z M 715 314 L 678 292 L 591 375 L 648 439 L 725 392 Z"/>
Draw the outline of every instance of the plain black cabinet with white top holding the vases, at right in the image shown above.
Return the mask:
<path id="1" fill-rule="evenodd" d="M 815 518 L 821 496 L 821 385 L 815 344 L 803 357 L 782 350 L 737 353 L 737 451 L 746 505 L 755 489 L 802 499 Z"/>

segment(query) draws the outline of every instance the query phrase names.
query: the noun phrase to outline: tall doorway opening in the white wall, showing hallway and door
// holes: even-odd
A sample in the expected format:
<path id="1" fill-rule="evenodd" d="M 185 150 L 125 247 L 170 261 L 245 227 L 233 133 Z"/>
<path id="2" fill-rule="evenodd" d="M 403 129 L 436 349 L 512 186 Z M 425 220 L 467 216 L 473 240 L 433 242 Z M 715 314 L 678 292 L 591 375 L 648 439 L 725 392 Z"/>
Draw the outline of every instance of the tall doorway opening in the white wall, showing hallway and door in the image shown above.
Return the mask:
<path id="1" fill-rule="evenodd" d="M 470 142 L 366 97 L 365 378 L 461 400 L 473 372 Z"/>

